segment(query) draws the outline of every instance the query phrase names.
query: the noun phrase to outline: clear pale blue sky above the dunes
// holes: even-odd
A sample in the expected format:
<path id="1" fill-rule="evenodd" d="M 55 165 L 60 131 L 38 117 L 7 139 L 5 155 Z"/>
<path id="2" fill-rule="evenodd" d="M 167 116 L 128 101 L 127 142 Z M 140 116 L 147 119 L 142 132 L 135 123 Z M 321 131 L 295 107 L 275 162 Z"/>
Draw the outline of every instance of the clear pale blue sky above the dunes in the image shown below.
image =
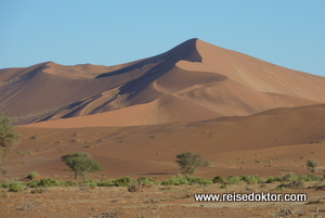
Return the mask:
<path id="1" fill-rule="evenodd" d="M 325 0 L 0 0 L 0 68 L 109 66 L 190 38 L 325 76 Z"/>

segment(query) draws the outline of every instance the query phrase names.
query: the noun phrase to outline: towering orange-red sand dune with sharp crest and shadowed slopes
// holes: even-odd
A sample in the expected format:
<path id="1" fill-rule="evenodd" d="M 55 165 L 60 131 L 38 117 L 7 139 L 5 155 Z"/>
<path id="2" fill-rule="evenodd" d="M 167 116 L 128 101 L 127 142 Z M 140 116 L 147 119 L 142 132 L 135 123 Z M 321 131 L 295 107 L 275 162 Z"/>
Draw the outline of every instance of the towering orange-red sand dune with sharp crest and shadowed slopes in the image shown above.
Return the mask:
<path id="1" fill-rule="evenodd" d="M 283 68 L 199 39 L 110 67 L 48 62 L 1 69 L 0 82 L 0 111 L 21 125 L 86 115 L 93 116 L 77 123 L 95 126 L 99 119 L 101 126 L 152 125 L 325 102 L 324 77 Z M 126 114 L 132 116 L 125 119 Z"/>

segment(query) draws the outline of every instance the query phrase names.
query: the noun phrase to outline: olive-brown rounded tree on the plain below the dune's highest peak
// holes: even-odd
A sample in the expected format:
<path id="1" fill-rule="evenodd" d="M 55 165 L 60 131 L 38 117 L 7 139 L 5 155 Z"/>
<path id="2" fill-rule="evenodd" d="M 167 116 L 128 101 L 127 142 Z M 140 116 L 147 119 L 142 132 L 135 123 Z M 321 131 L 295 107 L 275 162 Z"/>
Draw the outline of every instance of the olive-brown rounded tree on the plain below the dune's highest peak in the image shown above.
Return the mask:
<path id="1" fill-rule="evenodd" d="M 179 154 L 177 158 L 176 163 L 181 167 L 182 174 L 193 175 L 198 167 L 207 167 L 210 165 L 202 154 L 194 154 L 192 152 Z"/>

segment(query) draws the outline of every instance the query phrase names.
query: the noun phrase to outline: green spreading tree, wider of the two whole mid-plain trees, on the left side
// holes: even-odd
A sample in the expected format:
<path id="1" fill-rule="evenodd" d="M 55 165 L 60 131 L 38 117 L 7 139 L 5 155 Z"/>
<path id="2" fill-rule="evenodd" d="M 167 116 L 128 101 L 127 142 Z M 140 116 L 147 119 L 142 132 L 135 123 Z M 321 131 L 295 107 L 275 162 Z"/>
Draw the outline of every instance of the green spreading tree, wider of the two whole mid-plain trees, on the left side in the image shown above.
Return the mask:
<path id="1" fill-rule="evenodd" d="M 80 176 L 84 180 L 84 177 L 90 172 L 103 170 L 103 166 L 94 161 L 89 153 L 74 152 L 62 156 L 61 159 L 75 172 L 75 179 Z"/>

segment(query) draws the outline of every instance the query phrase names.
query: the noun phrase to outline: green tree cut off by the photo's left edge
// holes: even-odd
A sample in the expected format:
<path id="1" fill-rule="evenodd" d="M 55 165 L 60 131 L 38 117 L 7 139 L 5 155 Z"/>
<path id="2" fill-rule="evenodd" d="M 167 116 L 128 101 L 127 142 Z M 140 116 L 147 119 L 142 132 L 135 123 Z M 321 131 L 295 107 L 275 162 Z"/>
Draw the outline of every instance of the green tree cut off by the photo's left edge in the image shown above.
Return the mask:
<path id="1" fill-rule="evenodd" d="M 18 134 L 13 131 L 10 118 L 0 113 L 0 155 L 5 155 L 17 139 Z"/>

